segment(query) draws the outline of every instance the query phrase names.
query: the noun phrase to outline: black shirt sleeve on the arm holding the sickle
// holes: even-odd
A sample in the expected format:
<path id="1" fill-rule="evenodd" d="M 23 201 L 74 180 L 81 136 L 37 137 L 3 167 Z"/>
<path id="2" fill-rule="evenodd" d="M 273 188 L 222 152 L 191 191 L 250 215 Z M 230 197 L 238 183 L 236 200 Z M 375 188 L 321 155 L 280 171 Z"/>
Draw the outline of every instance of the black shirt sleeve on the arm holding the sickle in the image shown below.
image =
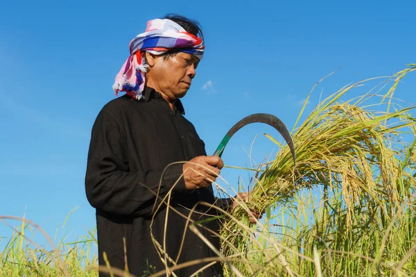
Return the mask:
<path id="1" fill-rule="evenodd" d="M 113 215 L 150 216 L 159 197 L 187 191 L 182 163 L 165 168 L 130 172 L 128 148 L 119 123 L 107 111 L 98 114 L 92 128 L 85 190 L 89 204 Z"/>

